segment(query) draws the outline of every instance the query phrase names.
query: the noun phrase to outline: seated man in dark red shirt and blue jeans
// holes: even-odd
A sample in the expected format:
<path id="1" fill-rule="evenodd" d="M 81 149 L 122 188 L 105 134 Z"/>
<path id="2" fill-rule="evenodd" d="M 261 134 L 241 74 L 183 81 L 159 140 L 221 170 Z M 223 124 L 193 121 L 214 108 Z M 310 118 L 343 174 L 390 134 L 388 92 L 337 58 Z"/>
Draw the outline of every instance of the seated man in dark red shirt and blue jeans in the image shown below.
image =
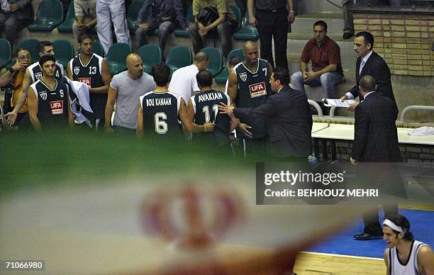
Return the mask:
<path id="1" fill-rule="evenodd" d="M 327 36 L 327 24 L 316 21 L 313 24 L 314 37 L 306 43 L 301 55 L 300 72 L 291 76 L 292 87 L 304 90 L 304 84 L 322 86 L 326 99 L 335 98 L 335 85 L 343 81 L 340 64 L 340 47 Z M 308 62 L 312 61 L 312 71 Z"/>

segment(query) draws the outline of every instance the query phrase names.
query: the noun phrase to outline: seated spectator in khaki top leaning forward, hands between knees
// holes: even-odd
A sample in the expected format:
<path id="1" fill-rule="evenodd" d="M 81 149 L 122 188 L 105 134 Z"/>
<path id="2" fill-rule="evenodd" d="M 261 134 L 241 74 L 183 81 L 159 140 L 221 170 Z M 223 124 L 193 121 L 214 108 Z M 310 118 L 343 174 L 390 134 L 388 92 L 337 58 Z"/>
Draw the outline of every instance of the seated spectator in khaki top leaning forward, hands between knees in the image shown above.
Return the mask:
<path id="1" fill-rule="evenodd" d="M 226 57 L 232 50 L 233 30 L 238 27 L 227 0 L 193 0 L 193 15 L 195 23 L 189 26 L 189 33 L 194 52 L 197 53 L 204 47 L 208 33 L 217 32 L 223 56 Z"/>

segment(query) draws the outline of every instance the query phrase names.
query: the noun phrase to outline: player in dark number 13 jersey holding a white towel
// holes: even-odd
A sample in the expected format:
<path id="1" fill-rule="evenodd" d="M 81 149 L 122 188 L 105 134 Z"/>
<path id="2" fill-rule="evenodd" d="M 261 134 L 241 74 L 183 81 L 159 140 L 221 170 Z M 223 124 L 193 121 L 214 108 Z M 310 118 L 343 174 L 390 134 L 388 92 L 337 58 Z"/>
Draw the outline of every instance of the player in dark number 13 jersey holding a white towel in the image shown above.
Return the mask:
<path id="1" fill-rule="evenodd" d="M 96 118 L 96 130 L 103 129 L 107 91 L 109 91 L 111 82 L 109 64 L 103 57 L 92 52 L 91 35 L 80 33 L 78 43 L 81 53 L 68 62 L 68 78 L 87 84 L 90 93 L 90 106 Z M 98 125 L 103 126 L 98 127 Z"/>

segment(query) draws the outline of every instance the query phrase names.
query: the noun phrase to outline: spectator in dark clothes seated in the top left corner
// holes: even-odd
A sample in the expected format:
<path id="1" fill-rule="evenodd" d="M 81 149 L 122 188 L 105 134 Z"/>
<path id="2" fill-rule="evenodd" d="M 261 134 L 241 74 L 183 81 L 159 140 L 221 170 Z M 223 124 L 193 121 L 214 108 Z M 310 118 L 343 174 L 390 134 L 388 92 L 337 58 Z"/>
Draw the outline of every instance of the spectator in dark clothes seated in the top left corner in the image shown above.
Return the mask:
<path id="1" fill-rule="evenodd" d="M 33 0 L 0 0 L 0 31 L 15 45 L 21 30 L 33 22 Z"/>

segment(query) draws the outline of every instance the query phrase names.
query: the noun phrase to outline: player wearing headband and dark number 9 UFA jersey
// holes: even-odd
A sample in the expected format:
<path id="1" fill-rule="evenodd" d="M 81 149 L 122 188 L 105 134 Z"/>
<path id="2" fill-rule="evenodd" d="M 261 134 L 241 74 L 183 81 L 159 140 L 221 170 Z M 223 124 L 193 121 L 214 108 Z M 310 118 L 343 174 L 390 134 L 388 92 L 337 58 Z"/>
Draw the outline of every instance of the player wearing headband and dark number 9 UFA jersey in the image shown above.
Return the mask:
<path id="1" fill-rule="evenodd" d="M 55 78 L 57 71 L 53 56 L 40 57 L 41 79 L 28 88 L 28 114 L 33 128 L 45 129 L 73 127 L 74 117 L 69 108 L 69 86 Z"/>

